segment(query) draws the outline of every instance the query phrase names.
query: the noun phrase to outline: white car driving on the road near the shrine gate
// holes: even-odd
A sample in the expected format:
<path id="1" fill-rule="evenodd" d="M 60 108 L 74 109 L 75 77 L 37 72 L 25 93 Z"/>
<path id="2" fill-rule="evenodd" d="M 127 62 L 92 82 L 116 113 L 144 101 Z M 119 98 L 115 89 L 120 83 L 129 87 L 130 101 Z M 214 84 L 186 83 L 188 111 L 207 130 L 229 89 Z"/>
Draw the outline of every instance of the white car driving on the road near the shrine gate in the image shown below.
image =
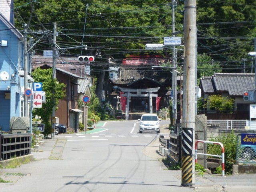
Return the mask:
<path id="1" fill-rule="evenodd" d="M 143 131 L 156 131 L 160 133 L 160 125 L 158 116 L 156 114 L 143 114 L 138 121 L 140 121 L 140 133 Z"/>

